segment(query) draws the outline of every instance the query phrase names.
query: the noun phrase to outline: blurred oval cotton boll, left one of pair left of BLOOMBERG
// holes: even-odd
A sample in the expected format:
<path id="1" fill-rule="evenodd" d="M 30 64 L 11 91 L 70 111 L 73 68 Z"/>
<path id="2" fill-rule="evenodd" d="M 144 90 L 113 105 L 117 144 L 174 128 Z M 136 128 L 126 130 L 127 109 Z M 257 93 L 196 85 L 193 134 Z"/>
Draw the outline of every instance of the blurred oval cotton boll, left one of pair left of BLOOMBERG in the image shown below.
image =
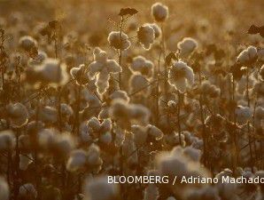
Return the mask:
<path id="1" fill-rule="evenodd" d="M 72 151 L 66 164 L 67 171 L 76 172 L 82 170 L 87 163 L 87 158 L 87 153 L 82 149 Z"/>

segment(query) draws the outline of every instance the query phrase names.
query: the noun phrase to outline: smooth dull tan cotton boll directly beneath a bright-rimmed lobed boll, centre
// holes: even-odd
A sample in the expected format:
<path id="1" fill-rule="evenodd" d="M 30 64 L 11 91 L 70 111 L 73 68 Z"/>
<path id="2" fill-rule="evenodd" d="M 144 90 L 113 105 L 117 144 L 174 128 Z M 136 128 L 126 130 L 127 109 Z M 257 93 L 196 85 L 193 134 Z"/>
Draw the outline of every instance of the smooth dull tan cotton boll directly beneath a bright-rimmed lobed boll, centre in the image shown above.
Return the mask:
<path id="1" fill-rule="evenodd" d="M 150 93 L 149 81 L 140 74 L 132 75 L 129 79 L 130 93 L 147 96 Z"/>

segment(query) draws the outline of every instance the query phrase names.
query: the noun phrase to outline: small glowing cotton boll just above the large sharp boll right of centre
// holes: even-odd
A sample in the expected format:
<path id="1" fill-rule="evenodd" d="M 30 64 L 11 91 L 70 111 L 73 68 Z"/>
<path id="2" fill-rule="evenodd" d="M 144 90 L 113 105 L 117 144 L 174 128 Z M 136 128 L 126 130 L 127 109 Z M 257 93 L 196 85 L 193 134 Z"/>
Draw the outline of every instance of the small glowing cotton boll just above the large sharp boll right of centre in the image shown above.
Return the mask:
<path id="1" fill-rule="evenodd" d="M 177 44 L 177 47 L 180 50 L 180 56 L 186 58 L 198 48 L 198 43 L 191 37 L 184 37 L 182 41 Z"/>

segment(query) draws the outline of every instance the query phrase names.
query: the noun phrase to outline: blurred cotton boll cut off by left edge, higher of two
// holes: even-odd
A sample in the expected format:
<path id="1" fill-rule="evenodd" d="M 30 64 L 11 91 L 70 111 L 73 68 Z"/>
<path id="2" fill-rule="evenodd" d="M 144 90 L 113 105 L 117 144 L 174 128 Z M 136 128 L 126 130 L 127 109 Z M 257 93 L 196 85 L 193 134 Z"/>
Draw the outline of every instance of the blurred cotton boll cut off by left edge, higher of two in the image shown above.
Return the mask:
<path id="1" fill-rule="evenodd" d="M 11 130 L 0 132 L 0 151 L 11 150 L 15 146 L 15 135 Z"/>

